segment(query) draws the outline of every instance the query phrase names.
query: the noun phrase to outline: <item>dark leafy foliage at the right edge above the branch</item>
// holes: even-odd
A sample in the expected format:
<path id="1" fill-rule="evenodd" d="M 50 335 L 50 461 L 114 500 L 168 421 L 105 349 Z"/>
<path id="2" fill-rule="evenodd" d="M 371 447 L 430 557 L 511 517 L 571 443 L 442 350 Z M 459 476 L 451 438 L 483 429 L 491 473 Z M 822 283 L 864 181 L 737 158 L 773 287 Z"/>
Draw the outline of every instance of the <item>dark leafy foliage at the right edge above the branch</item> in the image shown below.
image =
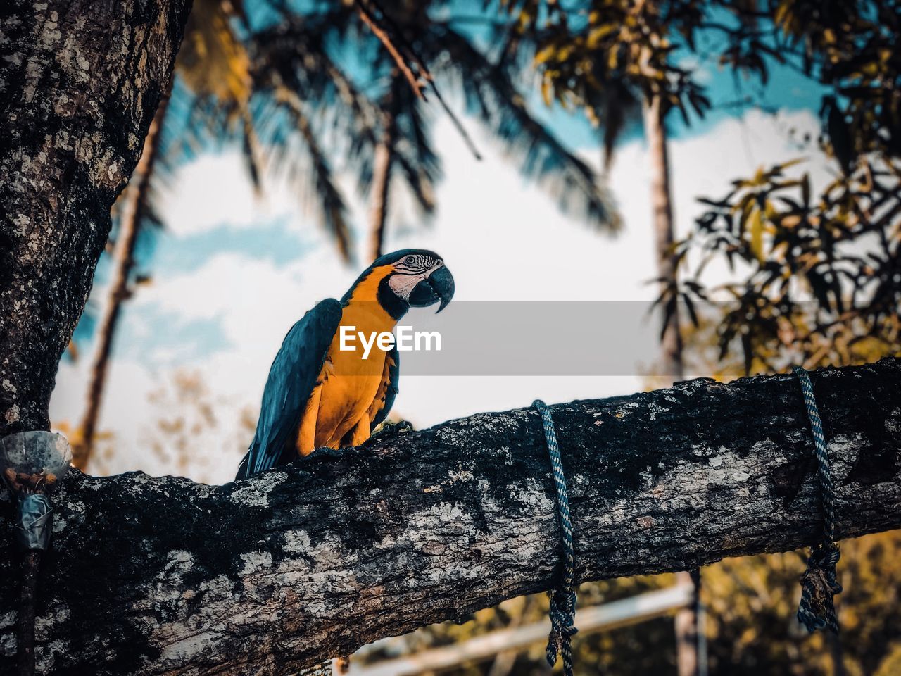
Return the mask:
<path id="1" fill-rule="evenodd" d="M 901 352 L 901 7 L 724 6 L 737 20 L 722 28 L 724 63 L 766 82 L 764 57 L 775 59 L 826 87 L 818 142 L 836 171 L 819 195 L 796 160 L 734 180 L 721 199 L 701 198 L 708 210 L 679 246 L 684 279 L 663 296 L 688 306 L 728 300 L 713 309 L 720 360 L 740 352 L 745 373 Z M 733 278 L 710 287 L 704 273 L 717 262 Z"/>

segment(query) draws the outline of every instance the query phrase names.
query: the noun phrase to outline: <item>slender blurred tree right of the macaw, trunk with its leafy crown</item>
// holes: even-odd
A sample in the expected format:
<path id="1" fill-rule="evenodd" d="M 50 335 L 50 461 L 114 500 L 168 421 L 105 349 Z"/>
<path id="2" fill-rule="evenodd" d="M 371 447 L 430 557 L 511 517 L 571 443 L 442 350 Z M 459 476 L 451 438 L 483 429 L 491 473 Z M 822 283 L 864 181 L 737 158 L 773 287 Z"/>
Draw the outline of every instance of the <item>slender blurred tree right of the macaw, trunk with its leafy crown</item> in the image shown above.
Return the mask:
<path id="1" fill-rule="evenodd" d="M 660 372 L 680 379 L 684 364 L 676 284 L 678 253 L 666 122 L 673 110 L 678 109 L 688 122 L 689 107 L 699 115 L 710 107 L 703 87 L 672 58 L 675 41 L 694 44 L 703 7 L 687 2 L 663 11 L 657 3 L 597 0 L 576 22 L 556 3 L 547 5 L 546 15 L 538 11 L 540 4 L 509 0 L 500 4 L 524 14 L 516 31 L 536 45 L 533 65 L 542 73 L 547 103 L 553 96 L 564 105 L 581 106 L 602 131 L 605 169 L 613 162 L 614 147 L 623 131 L 635 123 L 643 125 L 651 163 L 654 253 L 664 301 Z"/>

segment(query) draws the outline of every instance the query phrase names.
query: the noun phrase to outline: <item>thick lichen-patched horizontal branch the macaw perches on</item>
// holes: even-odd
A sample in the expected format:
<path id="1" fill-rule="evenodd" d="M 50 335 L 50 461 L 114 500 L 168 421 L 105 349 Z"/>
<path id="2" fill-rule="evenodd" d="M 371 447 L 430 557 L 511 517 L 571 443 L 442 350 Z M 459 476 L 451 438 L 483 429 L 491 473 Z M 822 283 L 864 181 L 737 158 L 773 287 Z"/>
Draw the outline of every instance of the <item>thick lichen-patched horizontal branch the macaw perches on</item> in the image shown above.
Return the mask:
<path id="1" fill-rule="evenodd" d="M 837 536 L 901 526 L 901 361 L 813 380 Z M 699 379 L 552 411 L 579 580 L 787 551 L 822 534 L 794 376 Z M 225 486 L 72 472 L 39 591 L 39 669 L 291 674 L 464 618 L 554 584 L 552 496 L 532 409 L 316 452 Z M 0 561 L 3 669 L 14 573 Z"/>

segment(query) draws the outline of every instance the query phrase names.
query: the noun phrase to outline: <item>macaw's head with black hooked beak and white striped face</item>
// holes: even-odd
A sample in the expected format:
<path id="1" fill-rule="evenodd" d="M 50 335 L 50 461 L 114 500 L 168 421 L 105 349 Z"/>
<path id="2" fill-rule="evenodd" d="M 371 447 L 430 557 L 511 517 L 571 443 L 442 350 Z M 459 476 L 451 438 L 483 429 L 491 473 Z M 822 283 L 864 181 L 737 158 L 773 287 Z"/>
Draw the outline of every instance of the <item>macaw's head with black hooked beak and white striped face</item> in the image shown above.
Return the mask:
<path id="1" fill-rule="evenodd" d="M 404 249 L 379 257 L 359 276 L 344 301 L 359 298 L 367 288 L 389 315 L 402 317 L 410 307 L 428 307 L 439 303 L 441 312 L 453 297 L 453 276 L 434 251 Z"/>

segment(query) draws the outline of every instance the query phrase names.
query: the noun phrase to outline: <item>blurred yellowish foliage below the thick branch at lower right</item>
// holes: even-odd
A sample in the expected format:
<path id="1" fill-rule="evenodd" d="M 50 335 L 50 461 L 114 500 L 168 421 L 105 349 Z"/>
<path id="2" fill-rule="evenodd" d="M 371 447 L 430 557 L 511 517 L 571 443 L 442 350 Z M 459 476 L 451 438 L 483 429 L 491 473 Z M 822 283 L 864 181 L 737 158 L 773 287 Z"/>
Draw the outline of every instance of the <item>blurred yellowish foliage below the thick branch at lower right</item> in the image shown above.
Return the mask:
<path id="1" fill-rule="evenodd" d="M 807 635 L 795 619 L 800 598 L 804 554 L 788 552 L 726 559 L 702 570 L 709 673 L 736 676 L 888 676 L 898 671 L 901 629 L 896 622 L 901 602 L 901 534 L 867 535 L 842 542 L 839 571 L 844 591 L 837 598 L 842 625 L 841 655 L 823 633 Z M 627 598 L 674 583 L 671 574 L 604 580 L 581 585 L 581 607 Z M 544 595 L 515 598 L 467 618 L 462 625 L 444 623 L 420 630 L 405 647 L 460 642 L 492 629 L 538 622 L 546 617 Z M 577 673 L 616 676 L 676 673 L 676 641 L 672 617 L 658 617 L 602 634 L 573 639 Z M 376 659 L 378 653 L 367 656 Z M 841 669 L 834 660 L 841 660 Z M 500 662 L 508 671 L 497 669 Z M 560 666 L 554 671 L 559 671 Z M 551 673 L 544 645 L 535 644 L 512 662 L 470 664 L 442 673 L 459 676 L 502 676 Z"/>

